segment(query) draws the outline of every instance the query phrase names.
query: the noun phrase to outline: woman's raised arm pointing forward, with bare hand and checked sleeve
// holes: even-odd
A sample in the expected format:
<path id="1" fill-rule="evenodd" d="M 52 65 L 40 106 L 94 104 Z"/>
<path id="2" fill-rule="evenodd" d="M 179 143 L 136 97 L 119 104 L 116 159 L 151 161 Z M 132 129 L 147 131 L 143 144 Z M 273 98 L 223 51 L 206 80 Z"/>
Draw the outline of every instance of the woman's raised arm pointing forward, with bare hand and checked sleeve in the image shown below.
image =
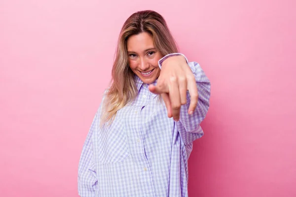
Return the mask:
<path id="1" fill-rule="evenodd" d="M 199 64 L 188 63 L 183 54 L 175 53 L 163 57 L 159 60 L 160 68 L 167 59 L 166 67 L 161 71 L 160 83 L 158 81 L 150 90 L 161 94 L 168 117 L 174 117 L 177 129 L 187 145 L 203 134 L 199 124 L 209 109 L 210 81 Z M 175 81 L 172 82 L 172 78 Z"/>

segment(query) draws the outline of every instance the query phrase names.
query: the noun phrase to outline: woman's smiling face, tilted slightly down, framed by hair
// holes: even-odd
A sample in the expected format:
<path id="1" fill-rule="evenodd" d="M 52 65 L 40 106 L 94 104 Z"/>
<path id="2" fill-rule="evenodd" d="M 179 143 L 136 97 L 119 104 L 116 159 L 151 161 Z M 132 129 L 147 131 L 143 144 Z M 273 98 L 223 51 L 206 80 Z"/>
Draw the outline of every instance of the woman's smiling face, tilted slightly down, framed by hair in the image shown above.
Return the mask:
<path id="1" fill-rule="evenodd" d="M 158 60 L 162 55 L 154 47 L 149 33 L 130 36 L 127 40 L 127 53 L 130 68 L 144 83 L 151 84 L 158 78 Z"/>

